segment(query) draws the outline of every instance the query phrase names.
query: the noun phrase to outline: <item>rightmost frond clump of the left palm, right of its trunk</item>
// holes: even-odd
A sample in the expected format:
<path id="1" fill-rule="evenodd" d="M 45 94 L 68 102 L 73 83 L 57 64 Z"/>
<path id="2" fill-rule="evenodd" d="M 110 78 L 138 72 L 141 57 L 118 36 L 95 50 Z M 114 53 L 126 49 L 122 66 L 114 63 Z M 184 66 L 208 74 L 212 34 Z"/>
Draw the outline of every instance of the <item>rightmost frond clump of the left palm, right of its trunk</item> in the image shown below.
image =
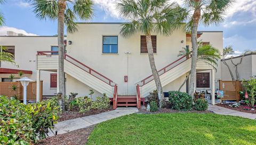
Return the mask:
<path id="1" fill-rule="evenodd" d="M 91 0 L 76 0 L 73 11 L 82 20 L 89 20 L 93 16 L 93 2 Z"/>

